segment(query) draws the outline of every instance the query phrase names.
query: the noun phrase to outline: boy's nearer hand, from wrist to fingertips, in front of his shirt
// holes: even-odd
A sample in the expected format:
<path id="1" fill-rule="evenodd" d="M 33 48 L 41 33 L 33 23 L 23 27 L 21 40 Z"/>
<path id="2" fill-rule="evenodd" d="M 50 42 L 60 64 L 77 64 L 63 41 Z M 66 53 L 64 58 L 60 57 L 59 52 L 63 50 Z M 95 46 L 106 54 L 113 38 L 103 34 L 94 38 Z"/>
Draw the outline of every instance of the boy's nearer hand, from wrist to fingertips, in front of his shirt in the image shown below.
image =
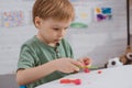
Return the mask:
<path id="1" fill-rule="evenodd" d="M 80 62 L 77 62 L 72 58 L 59 58 L 53 61 L 56 70 L 62 73 L 74 73 L 79 72 L 79 67 L 82 66 Z"/>

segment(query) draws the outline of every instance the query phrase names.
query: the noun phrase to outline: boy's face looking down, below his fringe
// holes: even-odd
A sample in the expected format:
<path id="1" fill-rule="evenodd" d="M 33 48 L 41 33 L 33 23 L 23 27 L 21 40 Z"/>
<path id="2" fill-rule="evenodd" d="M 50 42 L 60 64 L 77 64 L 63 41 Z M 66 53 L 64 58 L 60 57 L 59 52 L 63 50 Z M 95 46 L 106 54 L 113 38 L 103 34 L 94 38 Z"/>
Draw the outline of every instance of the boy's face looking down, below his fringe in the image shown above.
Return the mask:
<path id="1" fill-rule="evenodd" d="M 56 21 L 53 19 L 47 20 L 38 19 L 38 21 L 40 24 L 36 25 L 38 28 L 37 37 L 52 46 L 56 45 L 56 43 L 58 43 L 64 37 L 68 26 L 72 23 L 72 20 Z"/>

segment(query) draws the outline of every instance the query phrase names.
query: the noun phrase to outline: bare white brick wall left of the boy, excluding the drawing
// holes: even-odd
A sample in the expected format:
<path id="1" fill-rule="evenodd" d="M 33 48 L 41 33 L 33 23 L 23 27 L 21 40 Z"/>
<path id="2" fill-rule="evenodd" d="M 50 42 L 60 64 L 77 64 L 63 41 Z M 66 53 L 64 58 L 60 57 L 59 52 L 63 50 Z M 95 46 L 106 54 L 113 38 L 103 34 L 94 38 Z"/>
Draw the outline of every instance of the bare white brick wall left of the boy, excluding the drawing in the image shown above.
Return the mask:
<path id="1" fill-rule="evenodd" d="M 4 23 L 0 26 L 0 74 L 15 73 L 21 44 L 36 32 L 30 19 L 32 4 L 33 1 L 28 0 L 0 1 L 1 13 L 10 11 L 23 12 L 21 25 L 13 25 L 12 21 L 12 24 Z"/>

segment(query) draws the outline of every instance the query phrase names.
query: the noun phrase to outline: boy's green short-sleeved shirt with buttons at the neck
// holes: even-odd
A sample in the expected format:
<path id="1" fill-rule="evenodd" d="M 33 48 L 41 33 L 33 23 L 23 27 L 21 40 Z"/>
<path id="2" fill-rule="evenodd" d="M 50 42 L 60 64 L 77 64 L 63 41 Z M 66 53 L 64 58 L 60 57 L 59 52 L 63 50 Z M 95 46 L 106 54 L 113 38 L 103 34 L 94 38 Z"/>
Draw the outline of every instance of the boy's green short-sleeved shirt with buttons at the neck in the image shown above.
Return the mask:
<path id="1" fill-rule="evenodd" d="M 58 59 L 59 57 L 73 58 L 73 51 L 68 42 L 63 38 L 57 47 L 52 47 L 41 42 L 36 36 L 34 36 L 22 45 L 20 52 L 20 59 L 18 62 L 18 69 L 36 67 L 50 61 Z M 54 72 L 48 76 L 36 80 L 35 82 L 26 85 L 26 87 L 34 88 L 41 84 L 45 84 L 64 77 L 65 75 L 66 74 L 61 72 Z"/>

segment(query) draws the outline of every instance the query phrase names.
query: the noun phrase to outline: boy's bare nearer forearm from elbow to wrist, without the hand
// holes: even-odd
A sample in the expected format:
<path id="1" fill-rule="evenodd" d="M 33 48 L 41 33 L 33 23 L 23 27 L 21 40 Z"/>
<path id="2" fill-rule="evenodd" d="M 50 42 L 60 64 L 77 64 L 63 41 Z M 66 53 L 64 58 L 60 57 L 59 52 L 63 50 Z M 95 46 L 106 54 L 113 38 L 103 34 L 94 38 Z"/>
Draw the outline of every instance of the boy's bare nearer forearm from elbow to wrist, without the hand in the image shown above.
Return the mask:
<path id="1" fill-rule="evenodd" d="M 16 81 L 19 85 L 26 85 L 50 75 L 55 70 L 56 68 L 53 62 L 33 68 L 19 69 L 16 72 Z"/>

